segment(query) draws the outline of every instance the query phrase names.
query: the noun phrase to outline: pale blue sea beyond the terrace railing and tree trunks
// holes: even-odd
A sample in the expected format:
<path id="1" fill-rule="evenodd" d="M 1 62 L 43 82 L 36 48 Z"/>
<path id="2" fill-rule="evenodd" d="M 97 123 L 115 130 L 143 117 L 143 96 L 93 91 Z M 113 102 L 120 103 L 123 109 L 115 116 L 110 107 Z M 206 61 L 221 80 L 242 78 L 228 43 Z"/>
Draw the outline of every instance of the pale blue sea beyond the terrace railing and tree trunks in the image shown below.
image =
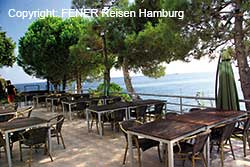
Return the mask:
<path id="1" fill-rule="evenodd" d="M 164 77 L 154 79 L 145 76 L 135 76 L 132 77 L 133 87 L 136 93 L 143 94 L 158 94 L 158 95 L 177 95 L 177 96 L 199 96 L 199 97 L 215 97 L 215 73 L 214 72 L 203 72 L 203 73 L 176 73 L 168 74 Z M 240 99 L 243 99 L 240 83 L 238 81 L 238 75 L 235 74 L 235 80 L 238 88 L 238 94 Z M 126 87 L 124 84 L 123 77 L 112 78 L 111 82 L 120 85 L 124 92 L 126 92 Z M 101 81 L 95 82 L 84 82 L 83 89 L 88 90 L 89 88 L 95 89 Z M 15 85 L 19 92 L 31 91 L 31 90 L 45 90 L 47 83 L 25 83 Z M 76 84 L 73 82 L 67 85 L 66 90 L 75 90 Z M 53 87 L 51 87 L 53 89 Z M 145 96 L 144 98 L 152 98 Z M 155 98 L 155 97 L 154 97 Z M 178 103 L 178 98 L 166 98 L 158 97 L 160 99 L 165 99 L 174 103 Z M 197 100 L 184 99 L 183 103 L 190 104 L 201 104 L 210 105 L 209 101 L 199 102 Z M 211 106 L 215 105 L 211 103 Z M 241 105 L 242 106 L 242 105 Z M 171 107 L 171 106 L 170 106 Z M 244 107 L 244 106 L 243 106 Z M 172 107 L 176 108 L 176 106 Z"/>

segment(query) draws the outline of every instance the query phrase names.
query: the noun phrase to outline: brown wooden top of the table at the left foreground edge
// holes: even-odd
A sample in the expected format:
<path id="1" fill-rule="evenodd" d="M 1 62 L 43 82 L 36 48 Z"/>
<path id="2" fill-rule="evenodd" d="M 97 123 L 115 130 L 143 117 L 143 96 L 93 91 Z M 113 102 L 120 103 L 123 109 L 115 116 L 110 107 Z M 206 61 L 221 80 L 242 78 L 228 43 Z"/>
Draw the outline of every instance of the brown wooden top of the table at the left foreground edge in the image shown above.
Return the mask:
<path id="1" fill-rule="evenodd" d="M 10 122 L 1 122 L 0 123 L 0 131 L 9 131 L 19 128 L 30 127 L 33 125 L 39 125 L 47 123 L 48 121 L 37 118 L 37 117 L 30 117 L 30 118 L 22 118 L 22 119 L 14 119 Z"/>

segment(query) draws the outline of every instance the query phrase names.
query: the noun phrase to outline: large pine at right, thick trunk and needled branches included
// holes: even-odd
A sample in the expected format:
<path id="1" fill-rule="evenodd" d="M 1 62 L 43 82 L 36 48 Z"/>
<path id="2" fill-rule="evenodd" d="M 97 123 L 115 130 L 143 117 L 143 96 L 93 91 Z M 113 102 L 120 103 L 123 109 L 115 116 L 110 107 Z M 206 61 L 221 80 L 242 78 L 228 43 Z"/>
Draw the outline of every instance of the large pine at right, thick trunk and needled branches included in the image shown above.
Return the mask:
<path id="1" fill-rule="evenodd" d="M 165 6 L 184 10 L 188 15 L 179 23 L 183 36 L 197 37 L 189 55 L 200 58 L 217 49 L 233 47 L 239 69 L 240 83 L 245 99 L 250 99 L 249 48 L 246 41 L 250 34 L 250 1 L 248 0 L 182 0 L 166 1 Z M 246 103 L 250 109 L 250 103 Z"/>

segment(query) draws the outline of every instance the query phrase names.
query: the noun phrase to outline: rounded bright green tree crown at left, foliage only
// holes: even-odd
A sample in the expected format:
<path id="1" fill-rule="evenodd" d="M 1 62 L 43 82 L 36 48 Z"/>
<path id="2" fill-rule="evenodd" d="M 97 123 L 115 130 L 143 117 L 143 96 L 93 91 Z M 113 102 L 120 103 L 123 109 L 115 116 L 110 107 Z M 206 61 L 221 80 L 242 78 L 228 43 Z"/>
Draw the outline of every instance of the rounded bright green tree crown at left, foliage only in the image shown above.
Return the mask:
<path id="1" fill-rule="evenodd" d="M 49 79 L 54 84 L 66 76 L 72 79 L 71 67 L 79 58 L 70 57 L 69 48 L 78 42 L 86 24 L 87 20 L 78 17 L 64 21 L 58 17 L 36 20 L 19 40 L 18 64 L 29 75 Z"/>

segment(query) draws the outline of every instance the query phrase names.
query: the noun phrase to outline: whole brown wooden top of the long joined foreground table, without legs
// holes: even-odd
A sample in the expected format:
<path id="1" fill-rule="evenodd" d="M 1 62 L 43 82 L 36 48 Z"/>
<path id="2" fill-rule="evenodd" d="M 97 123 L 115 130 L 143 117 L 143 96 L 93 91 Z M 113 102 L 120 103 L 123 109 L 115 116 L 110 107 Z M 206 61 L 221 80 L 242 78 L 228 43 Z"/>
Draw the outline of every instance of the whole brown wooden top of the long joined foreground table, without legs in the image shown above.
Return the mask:
<path id="1" fill-rule="evenodd" d="M 200 128 L 216 125 L 244 115 L 246 115 L 246 112 L 242 111 L 201 110 L 183 115 L 171 115 L 164 120 L 146 123 L 128 130 L 159 139 L 173 140 Z"/>

